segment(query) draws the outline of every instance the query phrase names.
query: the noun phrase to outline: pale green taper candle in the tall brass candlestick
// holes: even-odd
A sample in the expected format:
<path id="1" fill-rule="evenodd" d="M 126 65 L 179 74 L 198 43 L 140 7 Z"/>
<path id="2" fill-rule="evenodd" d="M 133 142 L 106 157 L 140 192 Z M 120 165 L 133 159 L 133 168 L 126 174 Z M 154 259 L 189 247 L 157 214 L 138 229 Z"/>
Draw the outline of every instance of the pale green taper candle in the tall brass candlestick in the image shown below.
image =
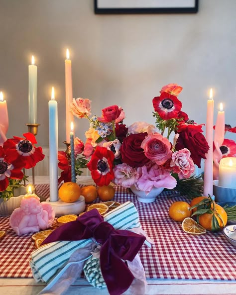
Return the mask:
<path id="1" fill-rule="evenodd" d="M 29 123 L 37 123 L 37 66 L 34 65 L 33 56 L 29 65 Z"/>

